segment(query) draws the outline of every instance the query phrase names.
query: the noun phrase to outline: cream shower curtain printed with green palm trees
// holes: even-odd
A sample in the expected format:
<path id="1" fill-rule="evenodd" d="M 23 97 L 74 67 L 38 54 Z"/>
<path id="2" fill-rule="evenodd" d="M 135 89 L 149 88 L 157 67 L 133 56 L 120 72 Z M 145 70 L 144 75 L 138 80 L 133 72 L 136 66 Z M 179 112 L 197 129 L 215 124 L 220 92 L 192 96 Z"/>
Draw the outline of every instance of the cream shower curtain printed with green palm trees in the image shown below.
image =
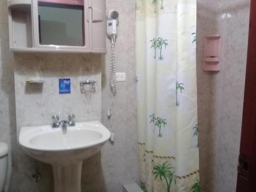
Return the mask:
<path id="1" fill-rule="evenodd" d="M 141 187 L 200 191 L 196 0 L 136 0 Z"/>

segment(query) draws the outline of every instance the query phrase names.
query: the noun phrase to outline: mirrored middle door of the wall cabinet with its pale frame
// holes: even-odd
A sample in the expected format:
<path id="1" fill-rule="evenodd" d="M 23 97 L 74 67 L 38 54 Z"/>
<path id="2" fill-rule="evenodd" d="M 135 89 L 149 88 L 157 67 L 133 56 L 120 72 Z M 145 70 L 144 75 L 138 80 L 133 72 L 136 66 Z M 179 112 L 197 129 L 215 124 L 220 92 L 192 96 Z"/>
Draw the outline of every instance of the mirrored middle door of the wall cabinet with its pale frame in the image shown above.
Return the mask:
<path id="1" fill-rule="evenodd" d="M 33 0 L 34 45 L 41 49 L 88 49 L 88 0 Z"/>

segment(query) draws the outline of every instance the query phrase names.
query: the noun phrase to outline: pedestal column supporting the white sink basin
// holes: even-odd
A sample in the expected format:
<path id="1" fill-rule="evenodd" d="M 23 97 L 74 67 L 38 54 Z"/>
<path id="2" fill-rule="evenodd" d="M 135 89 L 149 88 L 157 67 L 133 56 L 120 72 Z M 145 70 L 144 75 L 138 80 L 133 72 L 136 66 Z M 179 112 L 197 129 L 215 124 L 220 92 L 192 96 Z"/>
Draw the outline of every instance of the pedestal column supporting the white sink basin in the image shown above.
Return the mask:
<path id="1" fill-rule="evenodd" d="M 82 162 L 71 165 L 52 165 L 54 192 L 81 192 Z"/>

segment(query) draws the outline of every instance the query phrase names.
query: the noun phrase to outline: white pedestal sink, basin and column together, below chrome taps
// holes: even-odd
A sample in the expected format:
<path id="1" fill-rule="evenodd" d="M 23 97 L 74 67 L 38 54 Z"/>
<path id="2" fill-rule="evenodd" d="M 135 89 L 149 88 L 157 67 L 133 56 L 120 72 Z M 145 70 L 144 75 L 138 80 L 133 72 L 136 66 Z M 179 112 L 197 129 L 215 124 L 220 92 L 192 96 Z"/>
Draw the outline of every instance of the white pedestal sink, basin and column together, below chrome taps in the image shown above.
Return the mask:
<path id="1" fill-rule="evenodd" d="M 110 132 L 99 121 L 76 123 L 63 133 L 50 125 L 22 127 L 19 143 L 34 159 L 53 168 L 55 192 L 81 192 L 82 161 L 100 151 Z"/>

